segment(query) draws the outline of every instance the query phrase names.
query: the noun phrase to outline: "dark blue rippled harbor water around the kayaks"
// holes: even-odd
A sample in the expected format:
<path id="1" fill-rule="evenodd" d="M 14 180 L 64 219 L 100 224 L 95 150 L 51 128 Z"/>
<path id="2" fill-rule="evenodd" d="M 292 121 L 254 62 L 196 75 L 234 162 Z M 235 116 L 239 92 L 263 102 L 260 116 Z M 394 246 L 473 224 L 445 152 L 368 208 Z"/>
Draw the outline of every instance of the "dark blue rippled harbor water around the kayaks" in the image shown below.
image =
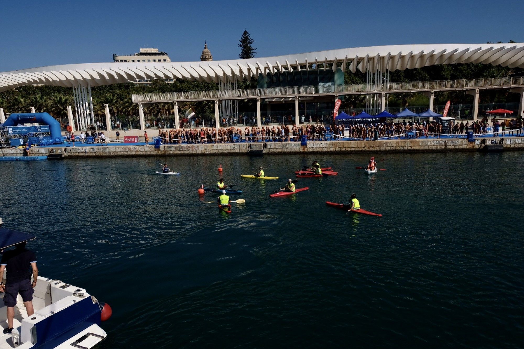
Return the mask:
<path id="1" fill-rule="evenodd" d="M 0 216 L 40 275 L 111 304 L 101 348 L 521 347 L 524 152 L 376 158 L 0 162 Z M 314 159 L 339 176 L 268 197 Z M 220 163 L 231 215 L 196 193 Z M 280 180 L 240 178 L 258 166 Z M 383 217 L 324 204 L 352 192 Z"/>

